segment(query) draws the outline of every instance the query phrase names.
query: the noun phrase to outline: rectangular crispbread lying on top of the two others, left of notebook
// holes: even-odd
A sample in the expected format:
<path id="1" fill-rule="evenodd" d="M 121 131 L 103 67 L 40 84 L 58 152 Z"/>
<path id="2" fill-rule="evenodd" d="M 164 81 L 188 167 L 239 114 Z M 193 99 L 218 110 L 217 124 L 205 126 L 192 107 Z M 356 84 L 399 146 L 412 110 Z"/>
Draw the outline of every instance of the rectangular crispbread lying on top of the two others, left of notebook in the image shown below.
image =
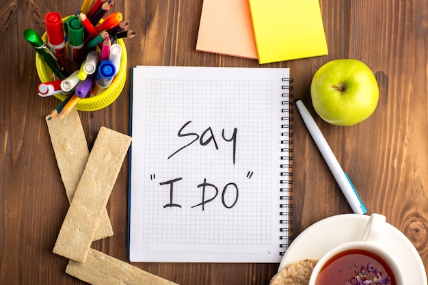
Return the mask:
<path id="1" fill-rule="evenodd" d="M 85 262 L 131 137 L 101 127 L 77 185 L 53 253 Z"/>

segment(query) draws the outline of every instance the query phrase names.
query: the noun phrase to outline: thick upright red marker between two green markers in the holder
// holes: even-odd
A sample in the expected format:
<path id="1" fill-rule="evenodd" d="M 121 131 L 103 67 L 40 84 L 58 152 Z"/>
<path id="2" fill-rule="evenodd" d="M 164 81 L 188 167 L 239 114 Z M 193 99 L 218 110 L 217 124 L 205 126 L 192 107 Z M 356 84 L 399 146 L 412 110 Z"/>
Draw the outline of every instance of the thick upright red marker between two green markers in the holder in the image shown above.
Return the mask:
<path id="1" fill-rule="evenodd" d="M 59 12 L 49 12 L 44 16 L 49 47 L 57 57 L 59 64 L 68 71 L 66 42 L 64 41 L 64 28 L 62 16 Z"/>

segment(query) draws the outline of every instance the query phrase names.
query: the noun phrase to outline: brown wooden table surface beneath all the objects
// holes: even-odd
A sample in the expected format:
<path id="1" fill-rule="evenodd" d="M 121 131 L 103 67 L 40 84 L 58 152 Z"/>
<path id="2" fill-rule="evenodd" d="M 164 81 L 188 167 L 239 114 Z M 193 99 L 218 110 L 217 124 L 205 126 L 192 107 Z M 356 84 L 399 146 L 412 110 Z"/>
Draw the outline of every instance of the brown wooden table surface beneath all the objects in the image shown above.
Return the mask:
<path id="1" fill-rule="evenodd" d="M 0 284 L 84 284 L 64 273 L 68 260 L 52 253 L 68 200 L 44 116 L 56 105 L 37 94 L 35 53 L 23 38 L 42 32 L 44 14 L 74 14 L 81 1 L 3 0 L 0 6 Z M 369 210 L 412 241 L 428 265 L 428 2 L 320 0 L 329 55 L 260 66 L 252 59 L 196 51 L 202 0 L 116 0 L 137 36 L 126 40 L 128 79 L 118 100 L 81 112 L 91 148 L 101 126 L 129 133 L 129 67 L 289 67 L 295 98 L 315 116 L 338 161 Z M 292 29 L 292 27 L 284 27 Z M 332 59 L 365 62 L 379 83 L 373 116 L 355 126 L 332 126 L 310 103 L 313 74 Z M 351 213 L 302 120 L 294 120 L 293 234 L 325 217 Z M 107 210 L 114 235 L 92 247 L 126 260 L 128 167 Z M 179 284 L 268 284 L 278 264 L 137 263 Z"/>

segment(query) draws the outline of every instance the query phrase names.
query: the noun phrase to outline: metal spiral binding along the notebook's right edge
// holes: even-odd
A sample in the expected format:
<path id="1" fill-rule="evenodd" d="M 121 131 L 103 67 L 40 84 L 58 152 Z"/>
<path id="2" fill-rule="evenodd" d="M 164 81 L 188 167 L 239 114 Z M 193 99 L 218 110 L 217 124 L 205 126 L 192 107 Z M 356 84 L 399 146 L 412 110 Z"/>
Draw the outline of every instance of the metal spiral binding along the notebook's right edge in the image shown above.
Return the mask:
<path id="1" fill-rule="evenodd" d="M 292 223 L 293 220 L 293 109 L 291 106 L 291 98 L 293 98 L 293 79 L 283 78 L 282 82 L 287 82 L 287 85 L 282 86 L 282 97 L 285 98 L 282 101 L 281 108 L 281 137 L 286 139 L 281 140 L 281 152 L 286 154 L 281 156 L 280 164 L 280 216 L 284 219 L 280 219 L 280 256 L 284 255 L 284 251 L 289 247 L 291 241 L 291 232 L 293 231 Z"/>

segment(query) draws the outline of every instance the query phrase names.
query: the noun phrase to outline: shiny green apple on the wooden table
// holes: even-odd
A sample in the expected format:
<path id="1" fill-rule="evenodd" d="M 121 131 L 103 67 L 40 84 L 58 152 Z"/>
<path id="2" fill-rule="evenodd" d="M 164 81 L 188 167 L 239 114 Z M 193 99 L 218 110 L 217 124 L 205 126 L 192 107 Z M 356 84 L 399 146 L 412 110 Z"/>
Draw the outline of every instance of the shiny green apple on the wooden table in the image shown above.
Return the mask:
<path id="1" fill-rule="evenodd" d="M 375 111 L 379 86 L 366 64 L 357 59 L 336 59 L 315 72 L 310 96 L 315 111 L 325 122 L 351 126 Z"/>

